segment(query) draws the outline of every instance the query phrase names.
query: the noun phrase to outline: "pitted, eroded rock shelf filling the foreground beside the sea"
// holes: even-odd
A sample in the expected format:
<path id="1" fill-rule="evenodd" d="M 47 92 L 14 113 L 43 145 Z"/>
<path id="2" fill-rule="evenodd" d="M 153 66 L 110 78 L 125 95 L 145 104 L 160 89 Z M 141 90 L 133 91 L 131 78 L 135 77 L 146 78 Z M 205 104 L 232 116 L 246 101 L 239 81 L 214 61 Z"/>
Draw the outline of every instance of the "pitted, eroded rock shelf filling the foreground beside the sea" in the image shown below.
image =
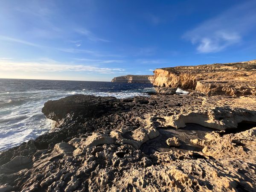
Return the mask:
<path id="1" fill-rule="evenodd" d="M 0 191 L 255 191 L 256 96 L 75 95 L 0 154 Z"/>

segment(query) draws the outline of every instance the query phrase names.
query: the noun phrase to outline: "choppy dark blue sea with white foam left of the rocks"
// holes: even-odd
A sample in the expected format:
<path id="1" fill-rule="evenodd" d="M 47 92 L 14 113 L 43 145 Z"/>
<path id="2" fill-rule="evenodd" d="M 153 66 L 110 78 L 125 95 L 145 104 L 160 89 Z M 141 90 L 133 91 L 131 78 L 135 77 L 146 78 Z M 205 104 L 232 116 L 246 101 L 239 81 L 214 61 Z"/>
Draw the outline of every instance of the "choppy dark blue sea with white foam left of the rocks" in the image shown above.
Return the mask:
<path id="1" fill-rule="evenodd" d="M 50 130 L 51 120 L 41 112 L 48 100 L 75 94 L 128 98 L 149 92 L 154 92 L 151 84 L 0 79 L 0 151 Z"/>

